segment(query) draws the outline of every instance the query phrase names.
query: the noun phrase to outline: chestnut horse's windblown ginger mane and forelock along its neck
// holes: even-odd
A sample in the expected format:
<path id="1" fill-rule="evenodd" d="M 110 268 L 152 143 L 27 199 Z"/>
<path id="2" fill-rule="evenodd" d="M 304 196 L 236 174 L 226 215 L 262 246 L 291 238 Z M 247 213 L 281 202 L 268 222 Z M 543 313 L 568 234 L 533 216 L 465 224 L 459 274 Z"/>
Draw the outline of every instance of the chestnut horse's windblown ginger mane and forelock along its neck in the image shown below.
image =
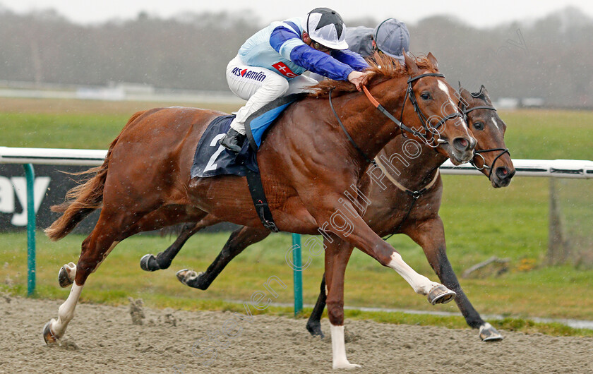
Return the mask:
<path id="1" fill-rule="evenodd" d="M 385 79 L 400 78 L 402 76 L 409 76 L 410 71 L 405 64 L 400 64 L 400 61 L 390 57 L 386 54 L 378 54 L 376 59 L 368 57 L 366 61 L 369 63 L 369 68 L 366 71 L 371 72 L 369 78 L 369 85 L 381 82 Z M 421 70 L 428 70 L 431 73 L 438 73 L 438 67 L 431 63 L 426 56 L 414 57 L 414 62 Z M 340 95 L 342 93 L 354 92 L 356 87 L 352 83 L 344 80 L 325 79 L 313 86 L 313 92 L 310 96 L 320 97 L 328 95 L 330 90 L 333 95 Z"/>

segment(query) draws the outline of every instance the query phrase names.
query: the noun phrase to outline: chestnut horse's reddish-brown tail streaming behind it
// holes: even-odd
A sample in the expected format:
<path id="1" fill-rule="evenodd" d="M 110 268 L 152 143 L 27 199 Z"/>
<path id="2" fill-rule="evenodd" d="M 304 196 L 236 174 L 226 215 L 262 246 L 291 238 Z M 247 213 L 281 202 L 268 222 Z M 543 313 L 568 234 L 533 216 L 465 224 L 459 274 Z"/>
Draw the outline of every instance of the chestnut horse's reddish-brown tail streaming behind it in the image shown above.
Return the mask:
<path id="1" fill-rule="evenodd" d="M 76 227 L 90 213 L 99 209 L 103 203 L 103 188 L 105 180 L 107 179 L 107 169 L 109 167 L 109 159 L 111 159 L 113 147 L 115 147 L 117 140 L 121 133 L 140 116 L 144 111 L 138 111 L 131 116 L 126 126 L 121 130 L 117 138 L 109 145 L 107 156 L 100 167 L 93 167 L 87 171 L 80 171 L 79 173 L 71 173 L 72 175 L 88 176 L 78 186 L 72 188 L 66 193 L 66 201 L 60 205 L 51 207 L 53 212 L 64 213 L 52 223 L 50 227 L 44 230 L 45 234 L 52 241 L 58 241 Z"/>

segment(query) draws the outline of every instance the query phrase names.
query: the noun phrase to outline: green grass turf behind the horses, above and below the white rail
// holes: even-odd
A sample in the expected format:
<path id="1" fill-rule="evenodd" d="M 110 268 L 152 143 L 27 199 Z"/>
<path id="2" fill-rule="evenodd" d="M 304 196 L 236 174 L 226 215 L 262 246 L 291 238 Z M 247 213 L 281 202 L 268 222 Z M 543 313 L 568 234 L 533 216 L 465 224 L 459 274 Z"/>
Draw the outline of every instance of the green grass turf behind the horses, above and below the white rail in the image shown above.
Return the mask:
<path id="1" fill-rule="evenodd" d="M 0 145 L 105 149 L 131 113 L 0 112 L 3 131 Z M 593 159 L 592 112 L 501 111 L 501 117 L 508 125 L 505 139 L 515 158 Z M 593 320 L 590 296 L 593 271 L 569 265 L 546 266 L 549 181 L 515 178 L 508 188 L 495 190 L 483 176 L 444 176 L 443 180 L 441 217 L 445 222 L 448 256 L 457 275 L 492 255 L 510 259 L 509 271 L 503 275 L 460 279 L 474 307 L 482 314 L 508 316 L 506 320 L 491 321 L 505 330 L 592 336 L 590 330 L 528 320 L 531 317 Z M 590 222 L 592 183 L 579 183 L 582 184 L 577 192 L 571 192 L 581 199 L 575 216 Z M 583 196 L 588 196 L 588 200 L 583 200 Z M 26 236 L 21 232 L 2 234 L 0 238 L 3 243 L 0 282 L 9 277 L 13 283 L 13 286 L 4 284 L 0 289 L 22 296 L 26 291 Z M 173 239 L 155 236 L 126 239 L 90 277 L 83 291 L 83 301 L 117 305 L 127 303 L 128 296 L 132 296 L 143 298 L 149 306 L 158 308 L 241 310 L 241 303 L 248 301 L 254 291 L 263 290 L 263 282 L 276 275 L 287 289 L 277 289 L 279 296 L 273 301 L 292 303 L 292 272 L 284 260 L 284 253 L 291 246 L 290 236 L 286 234 L 271 235 L 239 255 L 208 291 L 189 289 L 176 280 L 174 274 L 181 268 L 205 270 L 226 239 L 227 234 L 198 234 L 188 241 L 170 270 L 153 273 L 140 270 L 140 257 L 163 251 Z M 37 297 L 66 298 L 68 290 L 57 285 L 57 270 L 64 263 L 76 263 L 82 240 L 82 236 L 73 235 L 50 243 L 38 234 Z M 394 236 L 390 243 L 415 270 L 436 279 L 416 244 L 405 236 Z M 313 258 L 311 267 L 304 271 L 305 303 L 315 302 L 322 274 L 323 257 Z M 354 252 L 347 269 L 345 301 L 349 306 L 457 312 L 456 306 L 451 304 L 430 306 L 395 272 L 359 251 Z M 278 307 L 270 307 L 265 312 L 292 314 L 291 308 Z M 381 322 L 467 326 L 457 317 L 356 310 L 347 310 L 346 315 Z"/>

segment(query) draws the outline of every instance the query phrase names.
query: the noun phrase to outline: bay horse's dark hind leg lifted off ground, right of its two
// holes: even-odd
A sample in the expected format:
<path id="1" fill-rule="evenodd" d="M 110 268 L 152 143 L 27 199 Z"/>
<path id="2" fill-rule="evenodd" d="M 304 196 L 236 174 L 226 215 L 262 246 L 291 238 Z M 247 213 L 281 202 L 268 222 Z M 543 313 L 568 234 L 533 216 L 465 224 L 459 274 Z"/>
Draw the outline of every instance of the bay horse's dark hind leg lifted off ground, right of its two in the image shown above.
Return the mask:
<path id="1" fill-rule="evenodd" d="M 233 231 L 227 243 L 224 244 L 222 251 L 217 258 L 210 264 L 205 272 L 194 272 L 193 270 L 179 270 L 177 279 L 179 282 L 196 289 L 208 289 L 214 279 L 222 272 L 236 255 L 243 252 L 245 248 L 253 243 L 263 241 L 270 235 L 268 229 L 255 229 L 253 227 L 241 227 Z"/>

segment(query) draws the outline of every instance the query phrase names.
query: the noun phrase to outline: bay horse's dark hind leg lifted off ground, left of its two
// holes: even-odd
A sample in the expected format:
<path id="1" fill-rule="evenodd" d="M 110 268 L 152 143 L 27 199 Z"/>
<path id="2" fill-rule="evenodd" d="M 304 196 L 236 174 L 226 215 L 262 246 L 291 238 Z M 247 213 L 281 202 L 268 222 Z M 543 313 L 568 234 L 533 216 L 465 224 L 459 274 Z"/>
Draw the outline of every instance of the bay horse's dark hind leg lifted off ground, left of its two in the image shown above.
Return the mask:
<path id="1" fill-rule="evenodd" d="M 177 239 L 169 246 L 169 248 L 165 249 L 163 252 L 158 253 L 156 256 L 152 254 L 143 255 L 140 258 L 140 268 L 147 272 L 154 272 L 156 270 L 164 270 L 169 268 L 173 259 L 181 251 L 181 248 L 184 246 L 186 241 L 196 234 L 196 232 L 200 231 L 204 227 L 212 226 L 213 224 L 217 224 L 222 222 L 217 217 L 212 215 L 207 215 L 203 219 L 196 224 L 188 223 L 184 224 L 183 229 L 181 229 L 181 233 L 177 236 Z"/>

